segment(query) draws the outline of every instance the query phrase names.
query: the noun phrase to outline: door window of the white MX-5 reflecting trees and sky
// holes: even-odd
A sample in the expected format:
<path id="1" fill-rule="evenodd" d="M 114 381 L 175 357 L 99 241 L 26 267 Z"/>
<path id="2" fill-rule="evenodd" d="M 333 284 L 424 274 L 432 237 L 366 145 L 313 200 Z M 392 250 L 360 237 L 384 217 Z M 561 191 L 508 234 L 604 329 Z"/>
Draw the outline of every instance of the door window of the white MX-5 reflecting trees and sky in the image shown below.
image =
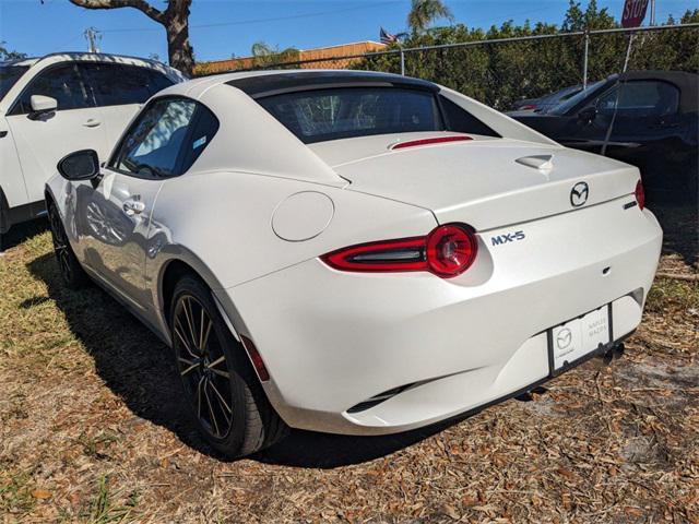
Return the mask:
<path id="1" fill-rule="evenodd" d="M 110 167 L 142 178 L 179 175 L 183 145 L 197 104 L 161 99 L 150 104 L 131 127 Z"/>

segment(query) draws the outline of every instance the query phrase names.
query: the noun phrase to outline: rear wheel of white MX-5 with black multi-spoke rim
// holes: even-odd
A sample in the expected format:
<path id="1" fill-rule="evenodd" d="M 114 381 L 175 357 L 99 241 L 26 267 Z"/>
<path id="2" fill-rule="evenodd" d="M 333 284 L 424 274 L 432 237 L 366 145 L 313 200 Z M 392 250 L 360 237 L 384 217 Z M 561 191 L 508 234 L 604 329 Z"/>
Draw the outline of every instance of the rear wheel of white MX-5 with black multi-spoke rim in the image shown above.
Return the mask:
<path id="1" fill-rule="evenodd" d="M 285 437 L 287 426 L 266 398 L 208 286 L 183 276 L 175 286 L 169 311 L 175 364 L 190 416 L 206 442 L 235 458 Z"/>

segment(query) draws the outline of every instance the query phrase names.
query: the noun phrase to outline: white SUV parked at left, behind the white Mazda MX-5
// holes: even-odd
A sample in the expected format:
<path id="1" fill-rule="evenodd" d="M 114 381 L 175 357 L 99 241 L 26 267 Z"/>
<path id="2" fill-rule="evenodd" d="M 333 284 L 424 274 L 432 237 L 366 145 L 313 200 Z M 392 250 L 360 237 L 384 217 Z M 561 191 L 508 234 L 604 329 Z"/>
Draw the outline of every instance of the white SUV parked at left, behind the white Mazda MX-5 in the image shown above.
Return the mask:
<path id="1" fill-rule="evenodd" d="M 116 55 L 55 53 L 0 63 L 0 235 L 40 215 L 68 153 L 105 156 L 139 106 L 182 74 Z"/>

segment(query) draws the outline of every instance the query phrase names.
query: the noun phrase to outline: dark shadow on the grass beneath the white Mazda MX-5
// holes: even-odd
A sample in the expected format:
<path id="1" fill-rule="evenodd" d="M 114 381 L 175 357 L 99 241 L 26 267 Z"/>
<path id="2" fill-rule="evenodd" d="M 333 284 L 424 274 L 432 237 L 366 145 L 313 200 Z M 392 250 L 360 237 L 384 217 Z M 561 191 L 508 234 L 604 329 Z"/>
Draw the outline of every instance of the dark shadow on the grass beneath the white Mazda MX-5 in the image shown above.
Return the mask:
<path id="1" fill-rule="evenodd" d="M 221 458 L 189 422 L 169 348 L 96 285 L 67 289 L 52 254 L 27 264 L 95 361 L 97 374 L 131 412 L 173 431 L 190 448 Z M 45 301 L 33 297 L 21 307 Z M 453 421 L 387 437 L 344 437 L 293 430 L 273 448 L 252 456 L 266 464 L 332 468 L 367 462 L 441 431 Z"/>

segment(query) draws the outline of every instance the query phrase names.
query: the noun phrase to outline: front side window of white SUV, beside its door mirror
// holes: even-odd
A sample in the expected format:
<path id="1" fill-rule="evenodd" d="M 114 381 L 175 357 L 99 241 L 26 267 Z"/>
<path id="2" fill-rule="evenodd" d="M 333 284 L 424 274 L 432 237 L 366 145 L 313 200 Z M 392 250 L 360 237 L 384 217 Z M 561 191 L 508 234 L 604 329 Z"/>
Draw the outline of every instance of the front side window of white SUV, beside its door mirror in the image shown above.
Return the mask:
<path id="1" fill-rule="evenodd" d="M 56 98 L 59 111 L 94 106 L 94 99 L 74 63 L 49 68 L 40 72 L 22 93 L 11 114 L 26 115 L 32 112 L 33 95 Z"/>

